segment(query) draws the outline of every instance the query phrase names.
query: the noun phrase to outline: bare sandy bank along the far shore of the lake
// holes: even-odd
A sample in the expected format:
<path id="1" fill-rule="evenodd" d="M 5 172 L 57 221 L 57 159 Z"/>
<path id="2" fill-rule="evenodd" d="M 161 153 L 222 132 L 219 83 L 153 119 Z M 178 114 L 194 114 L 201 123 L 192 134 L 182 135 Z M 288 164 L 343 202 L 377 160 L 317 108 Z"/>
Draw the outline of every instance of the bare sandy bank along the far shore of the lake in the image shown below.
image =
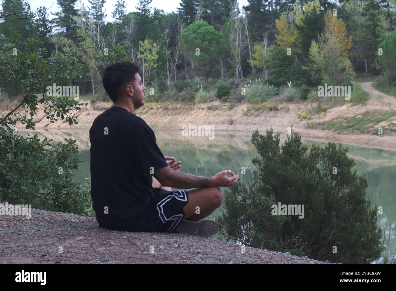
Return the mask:
<path id="1" fill-rule="evenodd" d="M 366 105 L 346 104 L 334 107 L 327 110 L 326 117 L 318 114 L 312 116 L 310 122 L 322 122 L 338 116 L 358 116 L 364 110 L 395 111 L 396 98 L 377 91 L 371 84 L 370 82 L 361 83 L 362 88 L 371 95 Z M 97 110 L 94 110 L 89 101 L 82 102 L 84 103 L 82 110 L 72 112 L 72 114 L 76 114 L 78 124 L 69 126 L 68 122 L 61 119 L 54 124 L 50 124 L 45 118 L 46 115 L 43 110 L 39 110 L 38 116 L 34 118 L 36 129 L 62 129 L 66 131 L 70 129 L 89 129 L 95 117 L 112 105 L 110 102 L 99 103 L 96 105 Z M 136 111 L 136 115 L 143 118 L 153 129 L 181 130 L 182 126 L 191 123 L 192 125 L 213 125 L 215 131 L 228 132 L 245 131 L 251 133 L 254 129 L 265 131 L 269 127 L 274 127 L 274 131 L 285 134 L 287 127 L 292 125 L 293 129 L 299 131 L 303 138 L 342 142 L 347 145 L 396 149 L 396 135 L 378 136 L 305 128 L 307 120 L 300 120 L 296 116 L 296 112 L 303 113 L 311 106 L 316 106 L 315 103 L 283 103 L 278 105 L 278 110 L 275 111 L 249 111 L 247 114 L 243 114 L 248 106 L 248 104 L 242 103 L 228 110 L 227 106 L 220 101 L 198 104 L 194 107 L 177 105 L 176 103 L 168 107 L 164 105 L 145 105 Z M 393 122 L 396 124 L 396 118 Z M 21 127 L 23 129 L 22 125 Z"/>

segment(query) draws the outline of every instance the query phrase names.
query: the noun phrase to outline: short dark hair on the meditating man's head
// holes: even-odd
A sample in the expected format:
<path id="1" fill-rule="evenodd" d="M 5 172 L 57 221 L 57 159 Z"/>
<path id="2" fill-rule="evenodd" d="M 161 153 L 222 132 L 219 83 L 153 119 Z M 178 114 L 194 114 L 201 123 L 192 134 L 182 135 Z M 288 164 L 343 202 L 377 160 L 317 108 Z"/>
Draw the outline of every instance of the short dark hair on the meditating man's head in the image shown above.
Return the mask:
<path id="1" fill-rule="evenodd" d="M 102 83 L 113 103 L 116 103 L 120 87 L 135 81 L 139 66 L 131 61 L 114 63 L 103 69 Z"/>

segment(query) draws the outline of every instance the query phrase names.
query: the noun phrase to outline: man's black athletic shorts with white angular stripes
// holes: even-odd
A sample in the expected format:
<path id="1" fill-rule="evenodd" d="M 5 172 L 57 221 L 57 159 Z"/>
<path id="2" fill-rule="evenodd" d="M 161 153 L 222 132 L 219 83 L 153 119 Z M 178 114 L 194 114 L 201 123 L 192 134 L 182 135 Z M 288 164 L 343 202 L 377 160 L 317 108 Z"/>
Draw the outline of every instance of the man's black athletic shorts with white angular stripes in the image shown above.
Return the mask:
<path id="1" fill-rule="evenodd" d="M 140 231 L 175 232 L 185 217 L 183 207 L 188 203 L 187 190 L 153 189 L 151 197 L 155 209 L 148 211 L 151 215 L 147 217 L 147 223 Z"/>

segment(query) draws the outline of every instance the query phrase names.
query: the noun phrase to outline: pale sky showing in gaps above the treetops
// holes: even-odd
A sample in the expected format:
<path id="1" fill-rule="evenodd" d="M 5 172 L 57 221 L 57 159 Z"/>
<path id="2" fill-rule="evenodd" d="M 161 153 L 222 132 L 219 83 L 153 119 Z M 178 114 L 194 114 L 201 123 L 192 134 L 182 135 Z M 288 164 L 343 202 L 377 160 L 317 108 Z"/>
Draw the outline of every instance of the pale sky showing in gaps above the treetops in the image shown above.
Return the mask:
<path id="1" fill-rule="evenodd" d="M 46 8 L 48 9 L 49 7 L 51 7 L 47 12 L 49 14 L 49 19 L 52 19 L 53 16 L 51 15 L 50 12 L 57 12 L 59 11 L 59 6 L 57 5 L 56 0 L 27 0 L 27 2 L 30 5 L 30 9 L 33 12 L 36 12 L 36 9 L 39 8 L 40 6 L 46 6 Z M 86 7 L 89 7 L 89 2 L 88 0 L 78 0 L 76 2 L 76 6 L 79 7 L 80 6 L 80 2 L 84 3 L 84 5 Z M 132 11 L 137 11 L 137 9 L 135 8 L 135 6 L 137 6 L 137 3 L 139 1 L 138 0 L 126 0 L 125 4 L 126 4 L 126 9 L 127 9 L 127 13 L 128 12 L 132 12 Z M 116 3 L 116 0 L 107 0 L 105 3 L 105 13 L 107 14 L 106 17 L 106 21 L 113 21 L 114 19 L 111 17 L 111 13 L 114 10 L 114 6 L 113 4 Z M 164 10 L 165 13 L 169 13 L 172 11 L 177 11 L 177 8 L 179 7 L 179 3 L 180 0 L 152 0 L 150 6 L 152 8 L 157 8 L 157 9 L 162 9 Z M 247 0 L 239 0 L 239 6 L 242 9 L 242 6 L 247 4 Z"/>

